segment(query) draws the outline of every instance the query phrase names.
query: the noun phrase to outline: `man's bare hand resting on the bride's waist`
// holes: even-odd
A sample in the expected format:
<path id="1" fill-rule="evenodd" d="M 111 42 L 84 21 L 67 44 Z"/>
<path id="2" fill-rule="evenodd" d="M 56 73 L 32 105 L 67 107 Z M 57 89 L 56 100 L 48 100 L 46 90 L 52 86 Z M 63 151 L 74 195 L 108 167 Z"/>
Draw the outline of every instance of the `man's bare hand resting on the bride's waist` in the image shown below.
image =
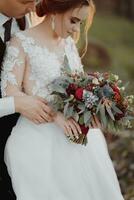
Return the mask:
<path id="1" fill-rule="evenodd" d="M 53 111 L 41 97 L 15 96 L 15 111 L 36 124 L 52 122 Z"/>

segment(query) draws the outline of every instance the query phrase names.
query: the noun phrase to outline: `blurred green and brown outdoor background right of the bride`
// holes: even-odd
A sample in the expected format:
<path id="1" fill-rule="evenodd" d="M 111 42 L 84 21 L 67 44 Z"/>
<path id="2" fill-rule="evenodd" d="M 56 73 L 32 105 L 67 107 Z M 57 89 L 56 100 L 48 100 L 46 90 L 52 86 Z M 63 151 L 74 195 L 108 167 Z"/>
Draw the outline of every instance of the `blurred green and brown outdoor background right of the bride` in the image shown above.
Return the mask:
<path id="1" fill-rule="evenodd" d="M 134 0 L 94 0 L 96 14 L 89 30 L 88 50 L 82 62 L 86 71 L 111 71 L 134 94 Z M 78 43 L 83 47 L 83 35 Z M 134 134 L 124 130 L 107 137 L 125 200 L 134 200 Z M 113 199 L 114 200 L 114 199 Z"/>

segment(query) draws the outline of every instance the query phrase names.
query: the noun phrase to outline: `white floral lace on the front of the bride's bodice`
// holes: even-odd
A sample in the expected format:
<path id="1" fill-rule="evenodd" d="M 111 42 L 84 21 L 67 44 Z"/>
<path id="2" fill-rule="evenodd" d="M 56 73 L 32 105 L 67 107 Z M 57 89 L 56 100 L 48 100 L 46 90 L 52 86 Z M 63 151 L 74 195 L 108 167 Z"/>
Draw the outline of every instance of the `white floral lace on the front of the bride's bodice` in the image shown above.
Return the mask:
<path id="1" fill-rule="evenodd" d="M 46 98 L 49 94 L 46 86 L 60 76 L 61 63 L 55 53 L 35 44 L 33 38 L 26 37 L 21 32 L 16 36 L 21 39 L 24 52 L 29 58 L 31 68 L 29 80 L 35 81 L 32 94 Z"/>

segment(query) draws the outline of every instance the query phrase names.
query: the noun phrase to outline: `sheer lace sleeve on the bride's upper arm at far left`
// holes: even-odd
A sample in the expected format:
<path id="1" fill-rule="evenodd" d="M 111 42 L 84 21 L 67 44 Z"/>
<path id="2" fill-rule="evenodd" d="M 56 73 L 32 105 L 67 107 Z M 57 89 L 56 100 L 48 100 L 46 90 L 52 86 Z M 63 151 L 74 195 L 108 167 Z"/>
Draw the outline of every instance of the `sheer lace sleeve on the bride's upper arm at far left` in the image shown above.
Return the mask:
<path id="1" fill-rule="evenodd" d="M 1 73 L 2 96 L 20 96 L 25 71 L 25 53 L 17 37 L 8 43 Z"/>

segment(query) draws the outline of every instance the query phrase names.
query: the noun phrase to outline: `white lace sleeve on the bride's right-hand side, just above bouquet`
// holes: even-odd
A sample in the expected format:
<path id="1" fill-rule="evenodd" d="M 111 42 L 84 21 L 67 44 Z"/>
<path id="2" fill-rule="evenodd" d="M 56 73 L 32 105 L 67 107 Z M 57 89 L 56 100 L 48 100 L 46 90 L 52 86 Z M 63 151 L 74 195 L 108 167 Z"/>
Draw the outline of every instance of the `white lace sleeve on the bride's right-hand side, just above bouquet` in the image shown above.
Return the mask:
<path id="1" fill-rule="evenodd" d="M 74 40 L 71 37 L 67 39 L 66 54 L 69 58 L 69 64 L 72 68 L 72 71 L 84 72 L 78 49 Z"/>

